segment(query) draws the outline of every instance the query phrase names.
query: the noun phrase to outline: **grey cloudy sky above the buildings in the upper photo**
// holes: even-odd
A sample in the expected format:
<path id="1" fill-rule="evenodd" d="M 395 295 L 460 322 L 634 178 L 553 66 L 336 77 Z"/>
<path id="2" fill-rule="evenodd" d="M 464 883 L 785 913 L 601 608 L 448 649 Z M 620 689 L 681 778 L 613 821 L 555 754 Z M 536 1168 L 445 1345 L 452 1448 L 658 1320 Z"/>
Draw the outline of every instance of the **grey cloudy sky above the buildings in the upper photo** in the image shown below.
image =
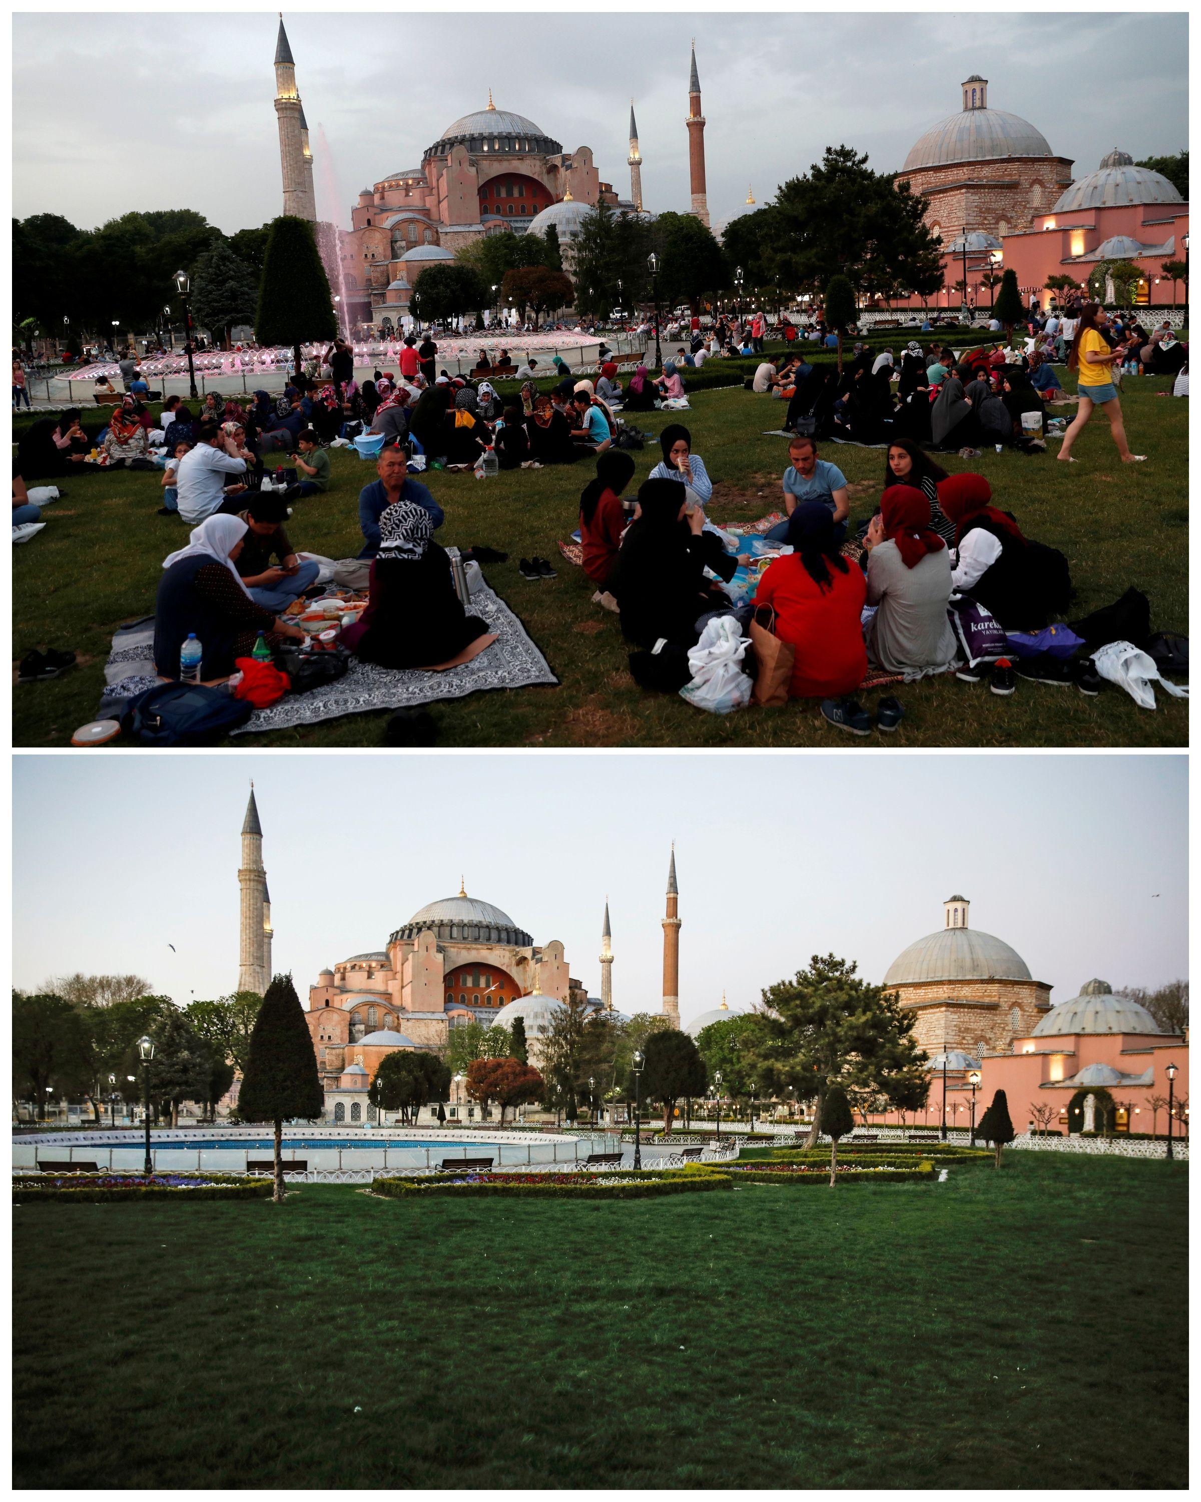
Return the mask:
<path id="1" fill-rule="evenodd" d="M 227 233 L 281 207 L 272 108 L 276 12 L 23 14 L 14 23 L 14 213 L 90 228 L 131 209 L 197 209 Z M 348 225 L 359 188 L 420 162 L 488 102 L 591 146 L 629 191 L 635 99 L 643 194 L 686 210 L 695 35 L 715 225 L 847 143 L 896 170 L 959 108 L 959 83 L 1033 122 L 1093 171 L 1187 143 L 1183 14 L 285 12 L 312 128 L 318 212 Z M 80 84 L 78 90 L 71 87 Z"/>

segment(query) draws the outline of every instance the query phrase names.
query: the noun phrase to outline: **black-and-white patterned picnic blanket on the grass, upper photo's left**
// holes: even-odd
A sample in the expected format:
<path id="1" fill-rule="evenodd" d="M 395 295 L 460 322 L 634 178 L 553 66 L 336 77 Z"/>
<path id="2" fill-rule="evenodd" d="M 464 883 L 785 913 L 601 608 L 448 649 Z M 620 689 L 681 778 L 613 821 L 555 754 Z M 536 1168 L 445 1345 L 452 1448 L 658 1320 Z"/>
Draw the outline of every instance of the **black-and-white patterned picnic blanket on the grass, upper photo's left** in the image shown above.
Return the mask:
<path id="1" fill-rule="evenodd" d="M 257 709 L 234 734 L 290 730 L 372 709 L 411 709 L 440 698 L 465 698 L 486 688 L 530 688 L 558 683 L 545 656 L 504 601 L 480 581 L 471 593 L 471 614 L 485 622 L 497 641 L 470 662 L 434 673 L 422 668 L 386 668 L 351 659 L 344 677 L 308 694 L 285 694 Z M 132 698 L 158 682 L 153 661 L 153 616 L 131 622 L 113 637 L 105 664 L 105 700 Z"/>

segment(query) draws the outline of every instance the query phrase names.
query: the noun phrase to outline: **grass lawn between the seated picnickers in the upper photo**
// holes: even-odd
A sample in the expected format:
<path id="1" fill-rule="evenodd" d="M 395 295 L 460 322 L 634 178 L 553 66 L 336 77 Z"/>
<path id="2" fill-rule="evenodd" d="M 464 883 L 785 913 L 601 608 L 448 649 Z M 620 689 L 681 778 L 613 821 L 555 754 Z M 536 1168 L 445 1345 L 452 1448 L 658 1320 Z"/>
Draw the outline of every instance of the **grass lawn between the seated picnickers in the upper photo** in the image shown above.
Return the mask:
<path id="1" fill-rule="evenodd" d="M 1042 457 L 988 449 L 977 460 L 950 455 L 941 461 L 949 470 L 985 473 L 994 499 L 1016 514 L 1030 536 L 1066 553 L 1078 589 L 1073 617 L 1135 584 L 1150 596 L 1153 629 L 1187 631 L 1187 403 L 1156 395 L 1163 388 L 1169 388 L 1166 379 L 1130 379 L 1121 398 L 1132 448 L 1148 455 L 1145 464 L 1118 463 L 1100 416 L 1076 445 L 1075 466 L 1055 461 L 1055 443 Z M 692 401 L 683 416 L 716 481 L 712 517 L 737 524 L 781 509 L 787 445 L 761 430 L 776 427 L 784 407 L 740 388 L 701 391 Z M 1070 409 L 1058 410 L 1070 415 Z M 641 418 L 643 431 L 655 433 L 676 421 L 667 413 Z M 883 452 L 830 443 L 823 454 L 853 485 L 853 518 L 869 515 L 880 497 Z M 659 457 L 658 443 L 635 455 L 635 484 Z M 330 557 L 357 553 L 357 491 L 374 475 L 374 466 L 335 451 L 333 488 L 297 505 L 293 542 Z M 461 547 L 488 544 L 509 554 L 507 563 L 489 565 L 486 577 L 560 679 L 557 688 L 476 694 L 432 706 L 441 743 L 845 745 L 851 737 L 827 725 L 815 701 L 716 716 L 677 695 L 641 691 L 629 674 L 617 617 L 590 602 L 593 586 L 582 569 L 558 560 L 555 580 L 521 578 L 521 556 L 558 559 L 555 542 L 575 529 L 579 490 L 590 476 L 585 463 L 521 470 L 486 484 L 470 475 L 431 476 L 447 514 L 440 539 Z M 68 496 L 48 509 L 45 530 L 14 550 L 14 653 L 20 658 L 50 643 L 75 650 L 80 665 L 59 680 L 15 689 L 14 742 L 24 746 L 68 745 L 77 725 L 95 716 L 113 631 L 153 611 L 162 559 L 188 536 L 180 521 L 155 515 L 158 475 L 95 475 L 65 484 Z M 868 692 L 869 709 L 880 692 L 898 692 L 905 706 L 890 745 L 1184 745 L 1187 739 L 1186 701 L 1163 692 L 1156 695 L 1154 713 L 1111 686 L 1085 698 L 1073 688 L 1021 683 L 1012 698 L 998 698 L 983 683 L 946 677 Z M 270 736 L 237 736 L 233 743 L 380 745 L 387 718 L 386 712 L 353 715 Z"/>

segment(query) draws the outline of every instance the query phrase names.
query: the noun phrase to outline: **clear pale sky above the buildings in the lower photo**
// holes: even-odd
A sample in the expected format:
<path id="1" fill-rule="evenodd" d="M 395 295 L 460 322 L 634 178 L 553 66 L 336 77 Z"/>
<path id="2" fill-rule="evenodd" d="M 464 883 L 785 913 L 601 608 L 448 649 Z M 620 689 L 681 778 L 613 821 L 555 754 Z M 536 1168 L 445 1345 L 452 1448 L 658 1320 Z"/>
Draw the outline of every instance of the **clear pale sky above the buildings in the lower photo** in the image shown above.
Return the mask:
<path id="1" fill-rule="evenodd" d="M 237 984 L 239 834 L 254 778 L 275 967 L 302 997 L 459 889 L 599 991 L 658 1011 L 671 840 L 685 1020 L 752 1005 L 815 952 L 880 981 L 962 892 L 1052 1000 L 1091 976 L 1187 975 L 1177 756 L 375 756 L 14 759 L 14 970 L 135 972 L 180 1003 Z M 174 945 L 174 952 L 168 948 Z"/>

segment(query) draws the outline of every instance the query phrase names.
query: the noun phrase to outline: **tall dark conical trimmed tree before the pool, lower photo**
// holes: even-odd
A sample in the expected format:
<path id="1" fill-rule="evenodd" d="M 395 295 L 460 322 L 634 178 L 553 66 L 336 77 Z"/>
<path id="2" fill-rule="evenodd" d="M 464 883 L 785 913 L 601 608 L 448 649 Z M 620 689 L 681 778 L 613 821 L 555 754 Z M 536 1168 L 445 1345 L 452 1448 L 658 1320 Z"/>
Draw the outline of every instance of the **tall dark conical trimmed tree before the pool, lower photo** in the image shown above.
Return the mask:
<path id="1" fill-rule="evenodd" d="M 243 1122 L 275 1126 L 275 1199 L 284 1199 L 281 1146 L 284 1122 L 317 1120 L 326 1104 L 317 1054 L 291 975 L 276 975 L 267 987 L 251 1033 L 246 1072 L 237 1093 Z"/>

